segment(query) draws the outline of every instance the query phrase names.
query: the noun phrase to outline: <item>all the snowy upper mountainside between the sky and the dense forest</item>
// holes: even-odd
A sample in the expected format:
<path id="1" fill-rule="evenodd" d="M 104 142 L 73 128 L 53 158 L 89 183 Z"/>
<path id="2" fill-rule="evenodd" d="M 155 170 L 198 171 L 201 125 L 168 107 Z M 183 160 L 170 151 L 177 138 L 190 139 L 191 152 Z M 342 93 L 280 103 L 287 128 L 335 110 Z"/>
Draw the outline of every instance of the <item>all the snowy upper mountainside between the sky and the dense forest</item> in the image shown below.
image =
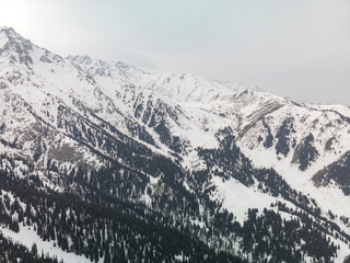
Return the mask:
<path id="1" fill-rule="evenodd" d="M 244 185 L 234 178 L 222 178 L 226 167 L 209 167 L 202 152 L 221 150 L 221 130 L 229 127 L 234 144 L 255 169 L 273 168 L 288 185 L 315 199 L 323 217 L 329 219 L 331 210 L 337 216 L 332 220 L 350 235 L 350 226 L 339 220 L 350 217 L 343 182 L 330 176 L 329 183 L 320 186 L 314 176 L 350 151 L 348 107 L 298 103 L 257 87 L 209 81 L 190 73 L 147 72 L 89 56 L 62 58 L 9 27 L 0 28 L 0 153 L 5 156 L 0 168 L 16 176 L 28 178 L 28 172 L 47 187 L 75 191 L 79 186 L 67 186 L 62 174 L 81 167 L 105 169 L 114 160 L 124 170 L 145 174 L 148 180 L 136 198 L 149 204 L 154 199 L 148 190 L 162 192 L 164 174 L 136 169 L 138 159 L 120 155 L 122 147 L 136 147 L 142 150 L 132 158 L 156 155 L 178 164 L 189 174 L 182 179 L 186 191 L 209 193 L 219 210 L 233 213 L 241 224 L 247 219 L 248 208 L 261 211 L 284 202 L 294 209 L 282 194 L 258 190 L 257 178 Z M 13 165 L 10 158 L 21 160 Z M 194 178 L 201 171 L 210 171 L 210 176 L 197 185 Z M 19 240 L 28 231 L 3 232 Z M 349 252 L 347 245 L 341 247 L 338 262 Z"/>

